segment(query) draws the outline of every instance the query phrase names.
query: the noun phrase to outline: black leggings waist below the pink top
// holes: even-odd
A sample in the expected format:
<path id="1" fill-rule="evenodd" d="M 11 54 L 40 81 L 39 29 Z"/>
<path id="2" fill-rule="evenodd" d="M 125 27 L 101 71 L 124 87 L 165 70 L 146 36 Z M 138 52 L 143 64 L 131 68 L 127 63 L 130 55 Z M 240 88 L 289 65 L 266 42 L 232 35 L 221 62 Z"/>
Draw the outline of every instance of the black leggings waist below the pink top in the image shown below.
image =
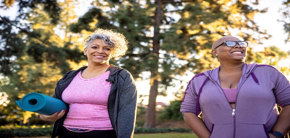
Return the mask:
<path id="1" fill-rule="evenodd" d="M 89 132 L 72 132 L 62 127 L 62 132 L 58 138 L 117 138 L 114 130 L 93 130 Z"/>

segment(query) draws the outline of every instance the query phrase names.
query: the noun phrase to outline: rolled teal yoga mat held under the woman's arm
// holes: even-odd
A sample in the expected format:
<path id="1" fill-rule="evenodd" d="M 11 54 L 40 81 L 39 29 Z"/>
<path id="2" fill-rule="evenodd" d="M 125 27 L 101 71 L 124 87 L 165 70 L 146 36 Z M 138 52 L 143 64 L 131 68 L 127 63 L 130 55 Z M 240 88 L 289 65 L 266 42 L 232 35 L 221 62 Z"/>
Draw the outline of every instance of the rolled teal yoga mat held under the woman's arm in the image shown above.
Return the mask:
<path id="1" fill-rule="evenodd" d="M 63 101 L 41 93 L 28 93 L 21 99 L 21 101 L 15 102 L 25 111 L 36 112 L 44 115 L 52 115 L 63 109 L 68 110 L 68 107 Z"/>

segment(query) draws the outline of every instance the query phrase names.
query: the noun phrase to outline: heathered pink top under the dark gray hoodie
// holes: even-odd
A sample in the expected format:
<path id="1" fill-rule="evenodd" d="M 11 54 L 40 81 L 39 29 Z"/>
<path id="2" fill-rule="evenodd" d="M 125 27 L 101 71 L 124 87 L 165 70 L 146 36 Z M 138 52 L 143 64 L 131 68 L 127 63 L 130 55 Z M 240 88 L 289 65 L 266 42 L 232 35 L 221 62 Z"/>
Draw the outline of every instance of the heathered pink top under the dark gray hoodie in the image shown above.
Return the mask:
<path id="1" fill-rule="evenodd" d="M 106 81 L 110 71 L 91 79 L 81 77 L 81 71 L 73 78 L 61 97 L 69 104 L 64 127 L 90 130 L 112 130 L 108 113 L 108 97 L 111 83 Z"/>

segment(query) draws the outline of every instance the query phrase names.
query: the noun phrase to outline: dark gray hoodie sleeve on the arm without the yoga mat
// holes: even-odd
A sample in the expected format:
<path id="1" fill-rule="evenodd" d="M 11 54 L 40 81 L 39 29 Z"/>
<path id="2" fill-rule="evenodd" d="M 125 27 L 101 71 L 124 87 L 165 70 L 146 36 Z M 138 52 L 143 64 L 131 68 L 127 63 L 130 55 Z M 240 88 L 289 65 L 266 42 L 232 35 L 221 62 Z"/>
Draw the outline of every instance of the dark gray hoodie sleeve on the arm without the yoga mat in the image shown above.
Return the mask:
<path id="1" fill-rule="evenodd" d="M 133 138 L 136 109 L 137 89 L 132 75 L 127 70 L 122 70 L 122 79 L 119 81 L 120 99 L 118 106 L 117 137 Z"/>

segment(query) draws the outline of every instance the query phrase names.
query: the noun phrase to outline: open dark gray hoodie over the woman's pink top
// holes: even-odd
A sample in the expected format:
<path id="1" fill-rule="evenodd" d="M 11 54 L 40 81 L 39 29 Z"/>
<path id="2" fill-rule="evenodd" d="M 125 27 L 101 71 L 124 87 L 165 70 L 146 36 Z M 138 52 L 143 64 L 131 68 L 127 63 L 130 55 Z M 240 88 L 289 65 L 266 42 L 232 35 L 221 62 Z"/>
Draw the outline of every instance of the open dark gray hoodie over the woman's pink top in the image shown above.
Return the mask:
<path id="1" fill-rule="evenodd" d="M 56 84 L 52 97 L 62 100 L 61 94 L 70 84 L 77 73 L 87 66 L 67 72 Z M 123 68 L 111 65 L 109 78 L 106 81 L 112 83 L 108 98 L 108 112 L 111 124 L 117 138 L 132 138 L 135 128 L 137 109 L 137 89 L 132 75 Z M 67 104 L 69 107 L 69 105 Z M 69 109 L 68 109 L 69 110 Z M 68 111 L 66 111 L 66 114 Z M 66 114 L 56 120 L 52 132 L 52 138 L 59 136 Z"/>

